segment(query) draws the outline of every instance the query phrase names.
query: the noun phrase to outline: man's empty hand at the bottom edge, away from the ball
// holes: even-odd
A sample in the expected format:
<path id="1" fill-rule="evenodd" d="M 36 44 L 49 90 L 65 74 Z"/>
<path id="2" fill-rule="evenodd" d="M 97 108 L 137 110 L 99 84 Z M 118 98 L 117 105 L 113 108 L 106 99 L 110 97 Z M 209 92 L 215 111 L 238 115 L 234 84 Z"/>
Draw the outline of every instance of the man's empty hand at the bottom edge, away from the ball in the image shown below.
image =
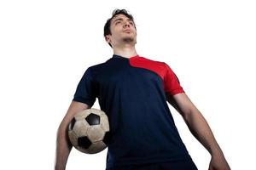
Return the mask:
<path id="1" fill-rule="evenodd" d="M 230 166 L 225 160 L 224 155 L 216 155 L 212 156 L 209 170 L 230 170 Z"/>

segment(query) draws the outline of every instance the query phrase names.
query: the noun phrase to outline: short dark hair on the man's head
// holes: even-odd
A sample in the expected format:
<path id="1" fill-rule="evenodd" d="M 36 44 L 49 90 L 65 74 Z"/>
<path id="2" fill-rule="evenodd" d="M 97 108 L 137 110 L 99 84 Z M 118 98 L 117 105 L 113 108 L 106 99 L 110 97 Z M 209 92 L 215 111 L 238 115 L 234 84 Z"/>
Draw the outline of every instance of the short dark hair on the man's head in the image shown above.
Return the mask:
<path id="1" fill-rule="evenodd" d="M 110 31 L 110 24 L 111 24 L 111 20 L 113 19 L 113 17 L 115 17 L 115 15 L 117 14 L 124 14 L 127 18 L 131 19 L 131 21 L 134 23 L 133 17 L 131 14 L 129 14 L 127 12 L 127 10 L 125 9 L 119 9 L 116 8 L 113 10 L 112 12 L 112 17 L 110 19 L 107 20 L 105 26 L 104 26 L 104 37 L 106 37 L 107 35 L 111 35 L 111 31 Z M 134 23 L 134 27 L 136 29 L 135 23 Z M 112 45 L 110 43 L 108 43 L 110 45 L 110 47 L 112 48 Z"/>

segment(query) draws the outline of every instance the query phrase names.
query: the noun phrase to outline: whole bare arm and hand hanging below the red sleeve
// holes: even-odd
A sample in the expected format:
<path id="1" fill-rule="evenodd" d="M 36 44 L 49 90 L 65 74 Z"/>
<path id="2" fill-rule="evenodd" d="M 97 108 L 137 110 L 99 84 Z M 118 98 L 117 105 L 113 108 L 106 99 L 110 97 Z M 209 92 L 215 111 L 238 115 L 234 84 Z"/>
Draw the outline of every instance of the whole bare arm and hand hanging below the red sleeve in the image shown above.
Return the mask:
<path id="1" fill-rule="evenodd" d="M 169 95 L 167 101 L 183 116 L 190 132 L 212 156 L 209 169 L 230 170 L 212 130 L 201 112 L 193 105 L 185 93 Z"/>

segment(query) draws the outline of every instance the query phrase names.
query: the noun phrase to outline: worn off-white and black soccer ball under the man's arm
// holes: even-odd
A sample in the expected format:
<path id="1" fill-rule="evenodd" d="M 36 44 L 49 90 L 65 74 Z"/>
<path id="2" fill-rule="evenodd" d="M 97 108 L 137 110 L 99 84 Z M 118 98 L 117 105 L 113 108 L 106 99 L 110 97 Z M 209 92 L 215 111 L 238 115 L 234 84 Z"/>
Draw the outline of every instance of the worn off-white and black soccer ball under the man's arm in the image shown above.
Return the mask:
<path id="1" fill-rule="evenodd" d="M 86 154 L 104 150 L 109 142 L 108 116 L 94 108 L 78 112 L 69 122 L 68 137 L 77 150 Z"/>

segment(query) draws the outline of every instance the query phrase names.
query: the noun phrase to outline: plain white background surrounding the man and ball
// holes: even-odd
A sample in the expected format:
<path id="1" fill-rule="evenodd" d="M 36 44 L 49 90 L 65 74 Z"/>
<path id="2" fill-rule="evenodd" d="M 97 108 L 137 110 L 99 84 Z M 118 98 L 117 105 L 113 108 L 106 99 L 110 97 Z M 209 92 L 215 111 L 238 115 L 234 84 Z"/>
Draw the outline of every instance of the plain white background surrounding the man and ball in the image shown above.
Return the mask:
<path id="1" fill-rule="evenodd" d="M 137 53 L 172 67 L 230 167 L 253 169 L 256 6 L 245 0 L 1 1 L 0 169 L 53 169 L 57 127 L 80 78 L 112 57 L 103 26 L 114 8 L 134 16 Z M 169 107 L 195 164 L 207 169 L 209 153 Z M 106 156 L 72 150 L 67 169 L 101 170 Z"/>

